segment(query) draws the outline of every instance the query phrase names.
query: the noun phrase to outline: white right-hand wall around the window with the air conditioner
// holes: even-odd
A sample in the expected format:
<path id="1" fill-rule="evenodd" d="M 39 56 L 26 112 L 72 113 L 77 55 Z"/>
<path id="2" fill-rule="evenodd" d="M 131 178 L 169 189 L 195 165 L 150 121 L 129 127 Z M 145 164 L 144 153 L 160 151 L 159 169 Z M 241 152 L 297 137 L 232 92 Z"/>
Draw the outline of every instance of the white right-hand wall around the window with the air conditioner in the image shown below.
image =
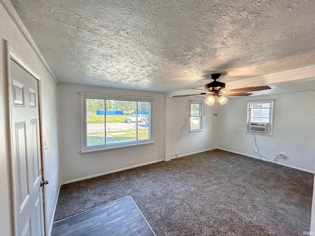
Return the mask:
<path id="1" fill-rule="evenodd" d="M 220 113 L 219 148 L 257 156 L 251 134 L 246 134 L 247 101 L 275 99 L 274 136 L 256 135 L 260 153 L 269 159 L 285 154 L 278 163 L 314 172 L 315 91 L 230 98 Z M 254 150 L 256 150 L 254 148 Z"/>

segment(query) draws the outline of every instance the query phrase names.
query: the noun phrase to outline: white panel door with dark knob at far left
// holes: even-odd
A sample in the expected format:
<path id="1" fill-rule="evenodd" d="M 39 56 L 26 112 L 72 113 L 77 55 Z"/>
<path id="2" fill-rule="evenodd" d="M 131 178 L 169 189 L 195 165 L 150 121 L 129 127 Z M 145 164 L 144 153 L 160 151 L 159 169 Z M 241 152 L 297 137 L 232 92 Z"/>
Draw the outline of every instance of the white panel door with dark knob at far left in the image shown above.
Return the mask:
<path id="1" fill-rule="evenodd" d="M 12 163 L 18 236 L 44 236 L 37 80 L 10 59 Z"/>

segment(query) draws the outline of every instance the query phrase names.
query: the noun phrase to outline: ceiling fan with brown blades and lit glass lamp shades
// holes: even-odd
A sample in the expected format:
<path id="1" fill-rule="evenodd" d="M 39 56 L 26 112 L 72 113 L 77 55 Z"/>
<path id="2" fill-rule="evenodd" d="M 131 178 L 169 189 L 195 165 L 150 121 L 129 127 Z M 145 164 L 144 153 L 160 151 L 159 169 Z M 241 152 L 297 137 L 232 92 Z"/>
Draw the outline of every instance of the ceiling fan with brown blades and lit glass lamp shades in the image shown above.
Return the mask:
<path id="1" fill-rule="evenodd" d="M 214 81 L 210 82 L 209 84 L 205 85 L 205 89 L 194 89 L 197 91 L 201 91 L 201 93 L 198 94 L 188 94 L 188 95 L 176 95 L 173 97 L 185 97 L 185 96 L 199 96 L 199 95 L 206 95 L 204 98 L 206 98 L 205 103 L 209 106 L 213 106 L 218 100 L 221 105 L 223 105 L 228 99 L 225 96 L 249 96 L 252 95 L 252 91 L 259 91 L 259 90 L 266 90 L 271 89 L 269 86 L 257 86 L 257 87 L 247 87 L 247 88 L 241 88 L 241 89 L 230 89 L 230 90 L 221 90 L 225 88 L 225 83 L 217 81 L 221 76 L 221 73 L 215 73 L 211 74 L 210 78 Z M 205 76 L 209 77 L 209 76 Z"/>

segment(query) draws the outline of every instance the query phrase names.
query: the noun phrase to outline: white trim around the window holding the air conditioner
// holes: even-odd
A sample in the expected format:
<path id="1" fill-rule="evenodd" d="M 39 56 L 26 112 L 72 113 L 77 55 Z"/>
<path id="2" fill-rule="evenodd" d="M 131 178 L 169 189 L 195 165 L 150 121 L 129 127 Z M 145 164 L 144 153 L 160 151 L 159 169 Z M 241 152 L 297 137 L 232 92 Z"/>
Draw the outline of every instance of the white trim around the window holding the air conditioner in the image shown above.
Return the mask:
<path id="1" fill-rule="evenodd" d="M 268 100 L 252 100 L 252 101 L 246 101 L 247 102 L 247 125 L 246 125 L 246 134 L 252 134 L 255 135 L 262 135 L 262 136 L 270 136 L 273 137 L 273 129 L 274 129 L 274 107 L 275 107 L 275 99 L 268 99 Z M 271 109 L 270 109 L 270 116 L 269 116 L 269 124 L 268 124 L 268 133 L 260 133 L 255 131 L 249 131 L 250 126 L 250 119 L 251 119 L 251 112 L 250 112 L 250 104 L 251 103 L 267 103 L 270 102 Z M 255 122 L 255 123 L 264 123 L 264 122 Z"/>

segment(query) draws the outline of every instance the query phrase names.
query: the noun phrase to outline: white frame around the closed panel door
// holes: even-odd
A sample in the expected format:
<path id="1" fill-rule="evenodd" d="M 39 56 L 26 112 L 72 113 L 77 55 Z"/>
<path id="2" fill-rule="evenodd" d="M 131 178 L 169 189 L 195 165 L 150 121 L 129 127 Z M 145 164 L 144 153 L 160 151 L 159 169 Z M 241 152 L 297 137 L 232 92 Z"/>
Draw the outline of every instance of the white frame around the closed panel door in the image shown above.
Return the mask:
<path id="1" fill-rule="evenodd" d="M 13 153 L 13 144 L 11 142 L 11 137 L 13 134 L 13 130 L 12 130 L 12 111 L 11 111 L 11 103 L 12 103 L 12 79 L 11 79 L 11 71 L 10 71 L 10 59 L 13 59 L 16 63 L 18 63 L 24 70 L 26 70 L 28 73 L 30 73 L 37 81 L 39 81 L 41 79 L 41 77 L 39 76 L 39 74 L 29 65 L 29 63 L 23 59 L 22 56 L 19 55 L 19 53 L 12 47 L 9 45 L 9 43 L 6 40 L 3 40 L 3 45 L 4 45 L 4 77 L 5 77 L 5 97 L 6 97 L 6 137 L 7 137 L 7 148 L 8 148 L 8 163 L 10 166 L 10 170 L 9 170 L 9 181 L 10 181 L 10 195 L 11 195 L 11 201 L 10 201 L 10 218 L 11 218 L 11 229 L 12 229 L 12 234 L 14 236 L 17 235 L 17 215 L 16 215 L 16 179 L 15 179 L 15 175 L 14 175 L 14 163 L 12 161 L 12 153 Z M 38 83 L 38 94 L 41 94 L 41 87 L 39 86 Z M 39 134 L 40 134 L 40 152 L 41 152 L 41 179 L 43 179 L 43 152 L 42 152 L 42 123 L 40 120 L 41 114 L 40 114 L 40 107 L 41 107 L 41 100 L 40 100 L 40 96 L 38 96 L 38 111 L 39 111 Z M 44 189 L 42 188 L 42 196 L 43 196 L 43 205 L 45 205 L 45 201 L 44 201 Z M 44 232 L 46 234 L 46 224 L 45 224 L 45 207 L 43 206 L 43 210 L 44 210 Z"/>

